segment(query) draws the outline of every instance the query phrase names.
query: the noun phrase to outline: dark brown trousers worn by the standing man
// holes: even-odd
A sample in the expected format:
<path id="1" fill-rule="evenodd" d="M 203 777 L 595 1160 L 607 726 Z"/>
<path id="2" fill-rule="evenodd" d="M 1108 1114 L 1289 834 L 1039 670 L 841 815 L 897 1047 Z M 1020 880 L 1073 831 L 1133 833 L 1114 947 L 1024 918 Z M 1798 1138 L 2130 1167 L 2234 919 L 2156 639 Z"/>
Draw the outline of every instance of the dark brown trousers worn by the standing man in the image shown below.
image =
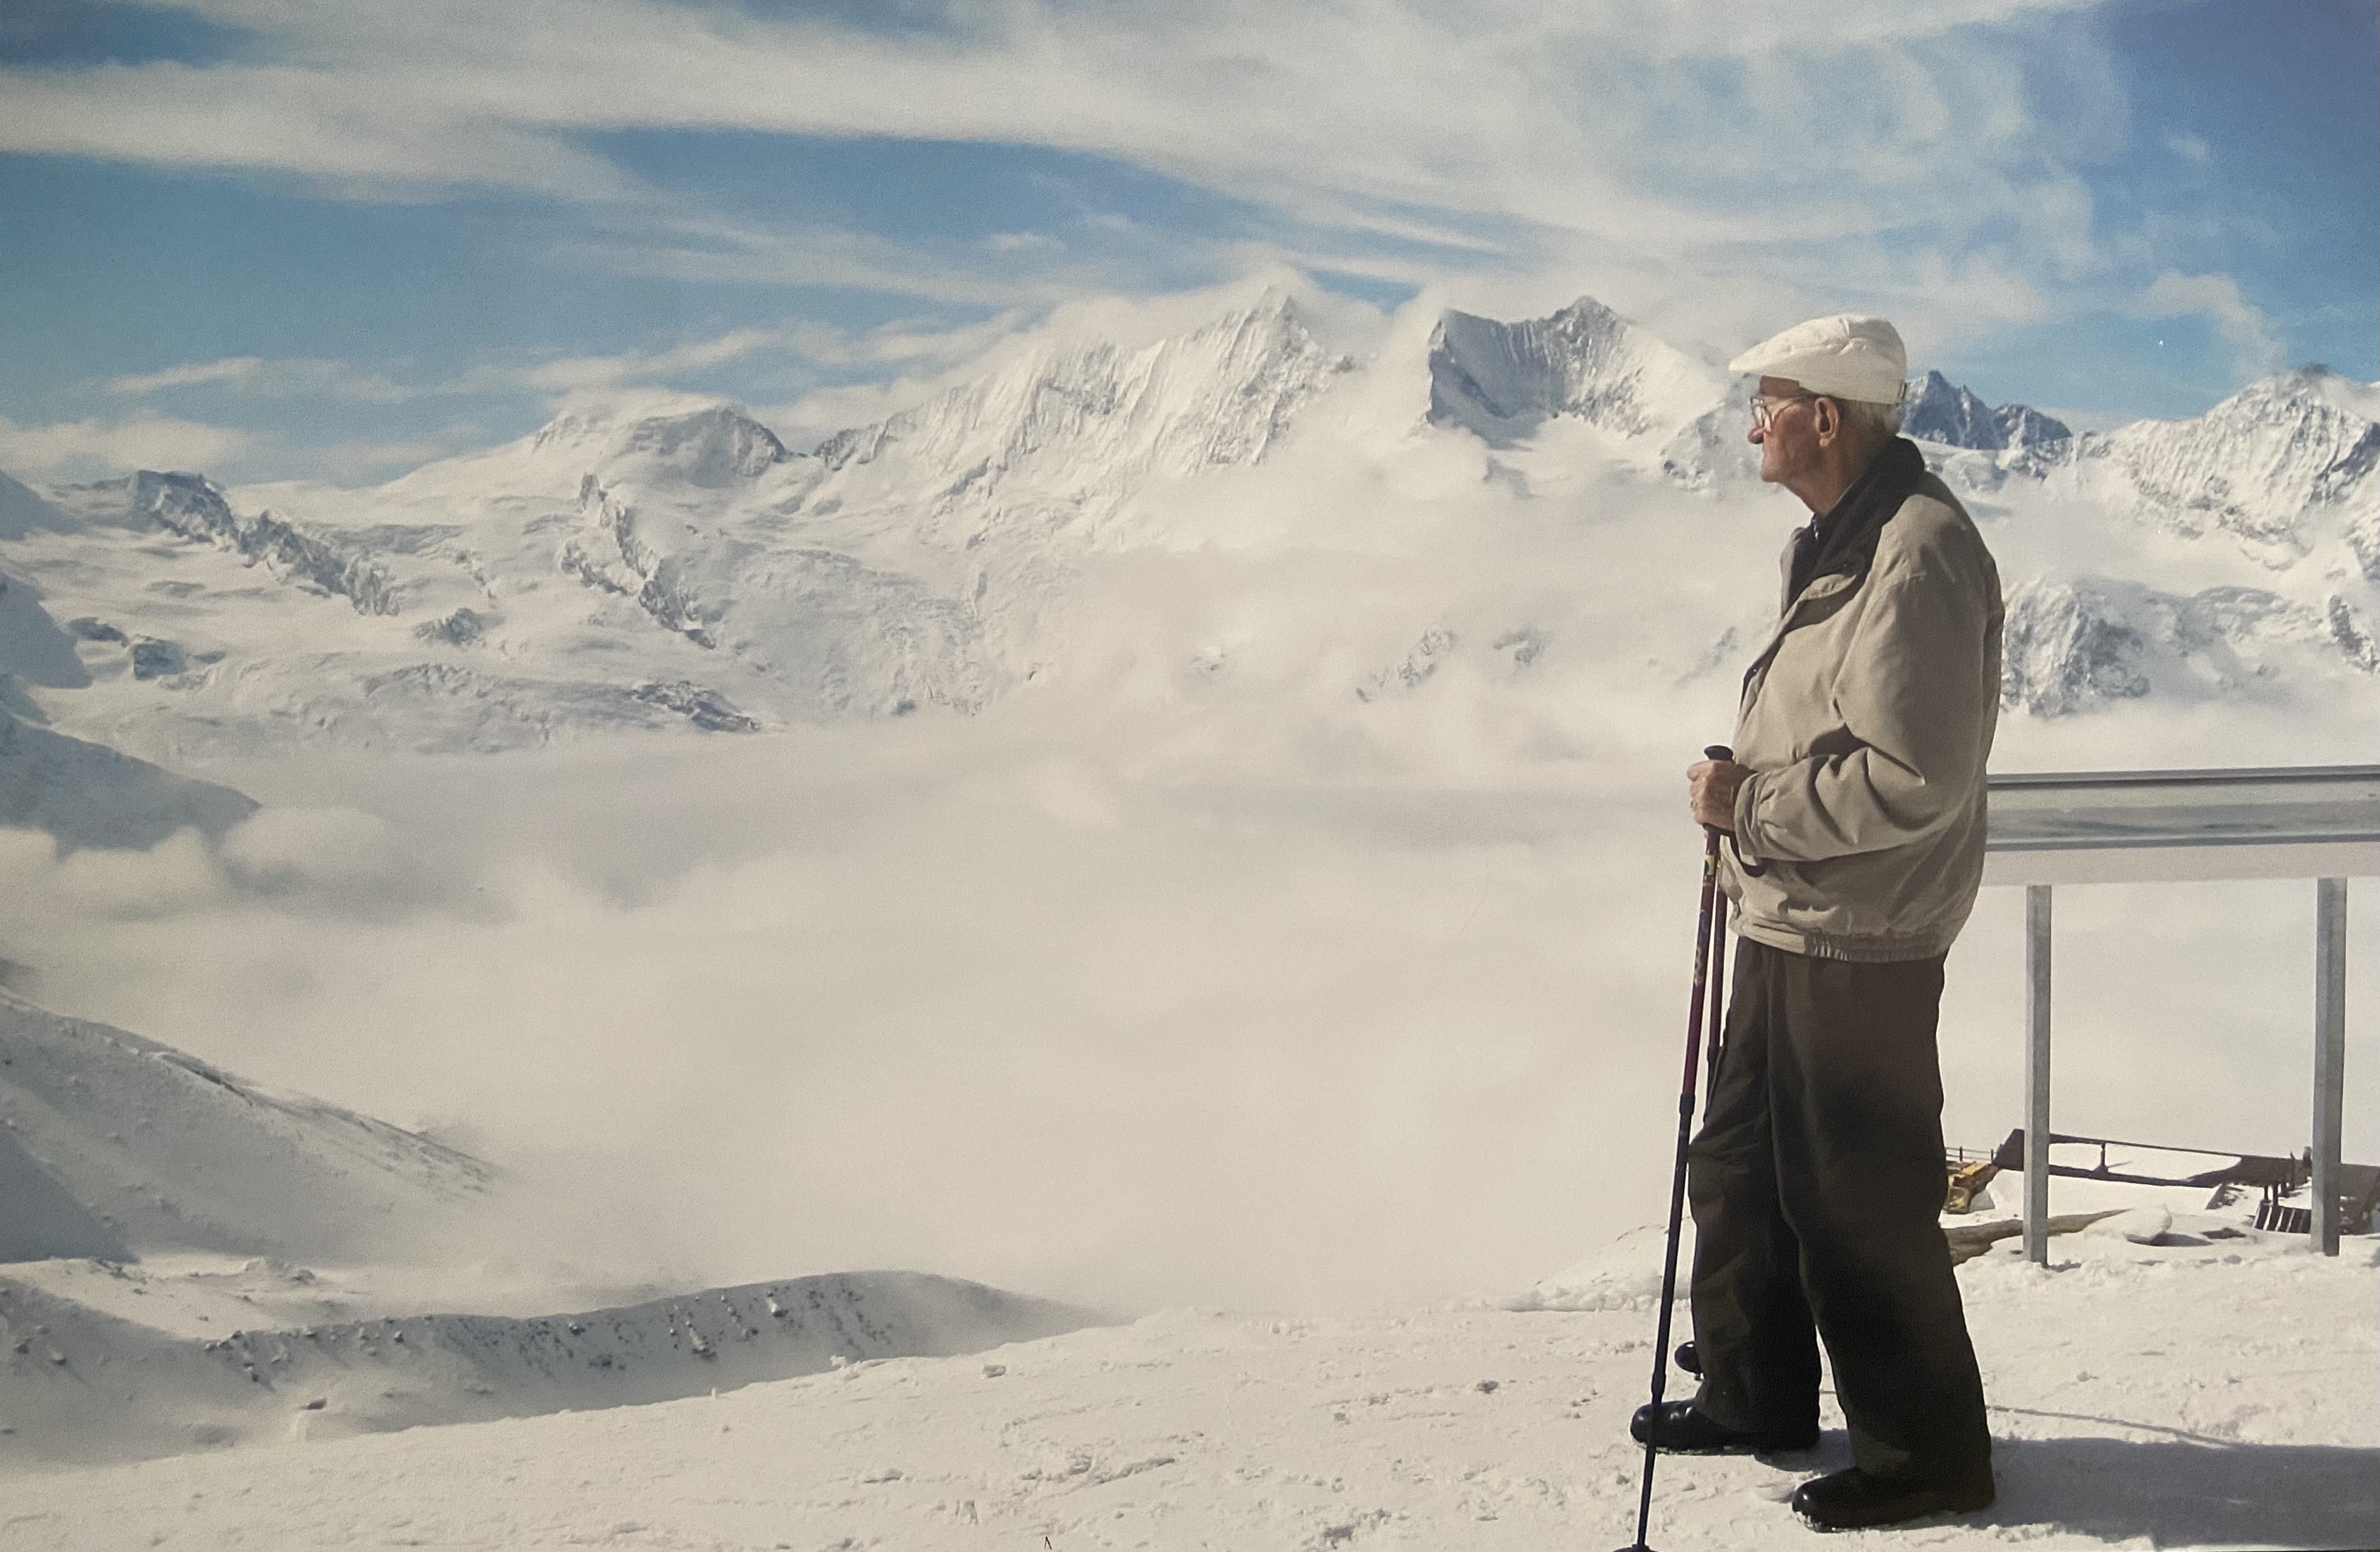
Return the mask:
<path id="1" fill-rule="evenodd" d="M 1864 1471 L 1971 1483 L 1992 1435 L 1940 1226 L 1940 955 L 1852 964 L 1737 940 L 1687 1152 L 1695 1404 L 1728 1428 L 1814 1426 L 1823 1338 Z"/>

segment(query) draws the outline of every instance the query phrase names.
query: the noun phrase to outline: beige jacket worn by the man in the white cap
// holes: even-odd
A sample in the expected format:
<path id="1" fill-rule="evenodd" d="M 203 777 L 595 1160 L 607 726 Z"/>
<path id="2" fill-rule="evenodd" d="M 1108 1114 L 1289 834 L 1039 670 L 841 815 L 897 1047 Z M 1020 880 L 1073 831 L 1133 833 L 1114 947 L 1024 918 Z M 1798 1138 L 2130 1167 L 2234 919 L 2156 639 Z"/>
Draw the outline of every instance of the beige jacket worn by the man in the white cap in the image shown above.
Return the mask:
<path id="1" fill-rule="evenodd" d="M 1999 628 L 1992 552 L 1933 474 L 1866 569 L 1785 600 L 1735 721 L 1752 778 L 1726 890 L 1745 938 L 1821 959 L 1949 950 L 1983 885 Z"/>

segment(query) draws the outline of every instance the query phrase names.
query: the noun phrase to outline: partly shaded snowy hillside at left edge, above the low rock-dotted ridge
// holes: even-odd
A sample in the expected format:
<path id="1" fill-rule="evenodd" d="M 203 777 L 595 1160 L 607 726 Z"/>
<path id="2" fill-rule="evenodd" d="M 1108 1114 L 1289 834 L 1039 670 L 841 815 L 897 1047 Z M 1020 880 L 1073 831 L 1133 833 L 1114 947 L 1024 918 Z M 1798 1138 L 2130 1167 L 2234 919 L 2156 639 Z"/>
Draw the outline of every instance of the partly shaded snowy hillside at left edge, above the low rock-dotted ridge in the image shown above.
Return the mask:
<path id="1" fill-rule="evenodd" d="M 388 1254 L 486 1200 L 478 1159 L 0 990 L 0 1259 Z"/>

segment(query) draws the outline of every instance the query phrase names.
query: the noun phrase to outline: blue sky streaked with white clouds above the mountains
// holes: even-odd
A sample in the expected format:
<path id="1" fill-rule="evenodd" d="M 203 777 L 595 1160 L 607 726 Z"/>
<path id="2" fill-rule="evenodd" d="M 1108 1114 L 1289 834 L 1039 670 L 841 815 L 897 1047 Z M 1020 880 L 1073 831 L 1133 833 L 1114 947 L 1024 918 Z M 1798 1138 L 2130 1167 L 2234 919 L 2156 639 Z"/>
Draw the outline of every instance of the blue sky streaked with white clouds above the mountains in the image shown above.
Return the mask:
<path id="1" fill-rule="evenodd" d="M 1825 17 L 1804 14 L 1825 10 Z M 793 440 L 1097 298 L 1894 317 L 2087 419 L 2380 378 L 2373 0 L 10 0 L 0 469 Z"/>

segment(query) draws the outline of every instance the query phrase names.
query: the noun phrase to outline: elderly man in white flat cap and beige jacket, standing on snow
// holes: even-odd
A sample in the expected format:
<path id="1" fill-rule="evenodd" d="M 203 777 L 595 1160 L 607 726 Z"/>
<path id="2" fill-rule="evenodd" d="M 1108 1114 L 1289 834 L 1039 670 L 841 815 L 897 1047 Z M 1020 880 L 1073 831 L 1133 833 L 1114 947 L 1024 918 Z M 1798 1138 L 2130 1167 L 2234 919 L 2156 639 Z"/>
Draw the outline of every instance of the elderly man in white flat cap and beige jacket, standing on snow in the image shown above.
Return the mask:
<path id="1" fill-rule="evenodd" d="M 1687 769 L 1733 857 L 1735 997 L 1687 1164 L 1702 1388 L 1640 1443 L 1766 1452 L 1818 1438 L 1818 1340 L 1852 1469 L 1792 1500 L 1816 1528 L 1992 1502 L 1992 1438 L 1940 1231 L 1942 959 L 1983 881 L 1999 574 L 1897 436 L 1885 319 L 1814 319 L 1759 374 L 1761 478 L 1809 509 L 1775 636 L 1745 674 L 1735 762 Z"/>

